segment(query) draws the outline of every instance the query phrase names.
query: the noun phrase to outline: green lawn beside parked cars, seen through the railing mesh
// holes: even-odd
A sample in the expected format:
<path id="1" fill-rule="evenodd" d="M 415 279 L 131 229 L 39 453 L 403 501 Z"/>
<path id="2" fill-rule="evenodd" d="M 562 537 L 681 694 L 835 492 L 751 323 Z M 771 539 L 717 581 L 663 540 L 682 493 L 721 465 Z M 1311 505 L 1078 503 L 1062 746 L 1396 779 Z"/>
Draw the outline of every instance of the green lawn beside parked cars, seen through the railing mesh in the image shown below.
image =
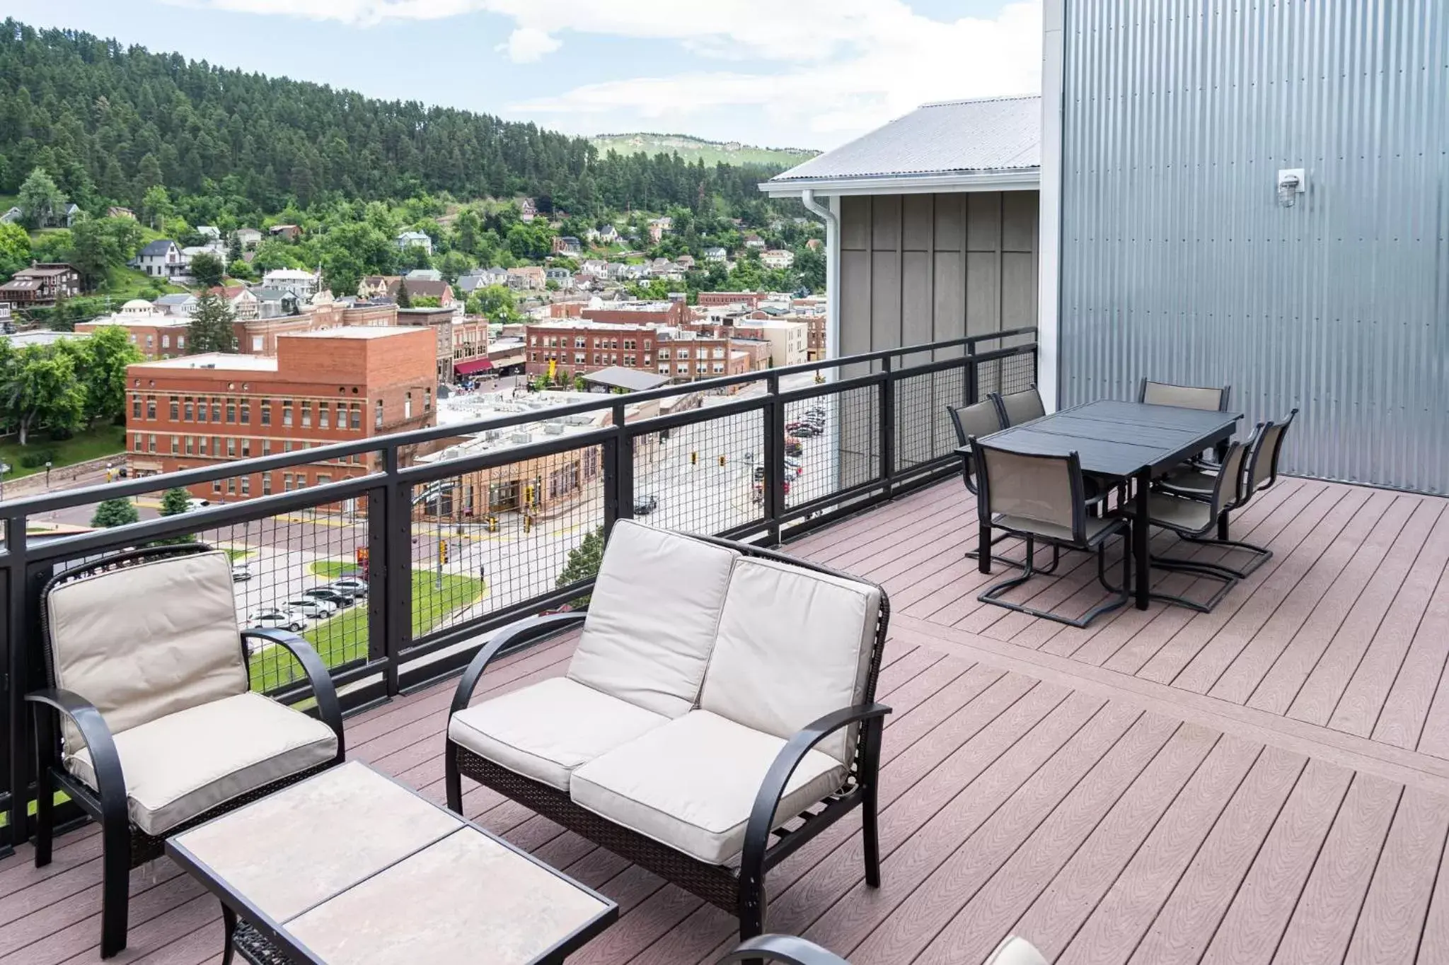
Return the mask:
<path id="1" fill-rule="evenodd" d="M 355 569 L 352 563 L 339 560 L 323 560 L 312 564 L 312 571 L 325 577 L 341 576 L 343 571 Z M 439 590 L 435 573 L 414 570 L 413 638 L 416 639 L 438 626 L 452 611 L 478 599 L 483 589 L 483 580 L 443 573 L 443 586 Z M 329 667 L 365 658 L 368 642 L 367 600 L 358 600 L 332 619 L 316 624 L 303 632 L 303 637 L 312 642 L 317 654 L 322 655 L 322 661 Z M 259 654 L 254 654 L 251 674 L 254 690 L 271 690 L 304 676 L 301 666 L 281 647 L 268 647 Z"/>

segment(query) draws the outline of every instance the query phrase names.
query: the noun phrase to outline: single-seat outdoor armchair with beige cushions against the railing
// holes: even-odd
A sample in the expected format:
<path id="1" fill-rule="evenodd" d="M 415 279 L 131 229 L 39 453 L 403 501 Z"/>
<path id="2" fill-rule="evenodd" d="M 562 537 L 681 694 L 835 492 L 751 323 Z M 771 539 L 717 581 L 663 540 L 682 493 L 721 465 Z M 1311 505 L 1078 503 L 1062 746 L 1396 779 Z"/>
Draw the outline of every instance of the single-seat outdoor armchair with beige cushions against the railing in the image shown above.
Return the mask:
<path id="1" fill-rule="evenodd" d="M 52 800 L 101 825 L 101 956 L 126 946 L 130 868 L 165 838 L 342 760 L 332 679 L 307 641 L 239 631 L 226 553 L 191 543 L 65 570 L 41 592 L 46 687 L 35 707 L 35 864 L 51 862 Z M 246 638 L 284 647 L 314 719 L 251 690 Z"/>

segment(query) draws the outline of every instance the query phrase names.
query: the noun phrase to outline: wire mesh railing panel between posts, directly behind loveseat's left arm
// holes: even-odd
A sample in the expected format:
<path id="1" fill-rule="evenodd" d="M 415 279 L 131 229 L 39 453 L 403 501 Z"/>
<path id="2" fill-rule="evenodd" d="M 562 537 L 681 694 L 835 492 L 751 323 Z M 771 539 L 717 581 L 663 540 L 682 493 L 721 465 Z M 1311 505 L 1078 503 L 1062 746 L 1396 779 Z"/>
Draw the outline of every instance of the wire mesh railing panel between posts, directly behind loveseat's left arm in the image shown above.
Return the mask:
<path id="1" fill-rule="evenodd" d="M 412 638 L 593 576 L 604 527 L 604 451 L 584 446 L 410 488 Z M 585 545 L 585 543 L 588 545 Z"/>

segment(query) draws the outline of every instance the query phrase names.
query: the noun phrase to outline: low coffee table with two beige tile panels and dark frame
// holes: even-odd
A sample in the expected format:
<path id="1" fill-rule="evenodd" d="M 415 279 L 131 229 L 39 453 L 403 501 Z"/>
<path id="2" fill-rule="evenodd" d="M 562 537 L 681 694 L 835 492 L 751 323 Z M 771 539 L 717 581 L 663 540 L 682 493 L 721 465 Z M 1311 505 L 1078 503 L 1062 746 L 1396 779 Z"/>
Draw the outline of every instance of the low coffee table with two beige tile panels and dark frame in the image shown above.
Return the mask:
<path id="1" fill-rule="evenodd" d="M 349 761 L 167 841 L 222 901 L 225 959 L 562 962 L 619 906 Z M 241 923 L 238 922 L 241 919 Z"/>

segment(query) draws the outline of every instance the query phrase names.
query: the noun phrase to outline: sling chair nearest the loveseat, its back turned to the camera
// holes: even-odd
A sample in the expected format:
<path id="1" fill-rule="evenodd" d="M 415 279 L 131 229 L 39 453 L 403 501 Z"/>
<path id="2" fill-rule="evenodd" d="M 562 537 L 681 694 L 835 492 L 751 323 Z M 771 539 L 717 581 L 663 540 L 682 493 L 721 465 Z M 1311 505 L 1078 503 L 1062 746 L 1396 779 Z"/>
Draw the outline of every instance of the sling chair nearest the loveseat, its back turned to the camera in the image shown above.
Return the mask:
<path id="1" fill-rule="evenodd" d="M 1026 566 L 1022 576 L 987 587 L 977 599 L 1071 626 L 1087 626 L 1103 613 L 1126 606 L 1132 584 L 1127 521 L 1119 515 L 1087 515 L 1085 482 L 1077 453 L 1066 456 L 1014 453 L 980 440 L 971 440 L 971 450 L 977 457 L 977 486 L 981 490 L 977 511 L 981 522 L 1006 530 L 1026 541 Z M 1122 537 L 1120 587 L 1111 586 L 1106 573 L 1107 541 L 1114 535 Z M 1052 545 L 1053 567 L 1061 548 L 1095 553 L 1097 579 L 1113 598 L 1075 619 L 1001 599 L 1037 573 L 1033 566 L 1037 541 Z"/>

